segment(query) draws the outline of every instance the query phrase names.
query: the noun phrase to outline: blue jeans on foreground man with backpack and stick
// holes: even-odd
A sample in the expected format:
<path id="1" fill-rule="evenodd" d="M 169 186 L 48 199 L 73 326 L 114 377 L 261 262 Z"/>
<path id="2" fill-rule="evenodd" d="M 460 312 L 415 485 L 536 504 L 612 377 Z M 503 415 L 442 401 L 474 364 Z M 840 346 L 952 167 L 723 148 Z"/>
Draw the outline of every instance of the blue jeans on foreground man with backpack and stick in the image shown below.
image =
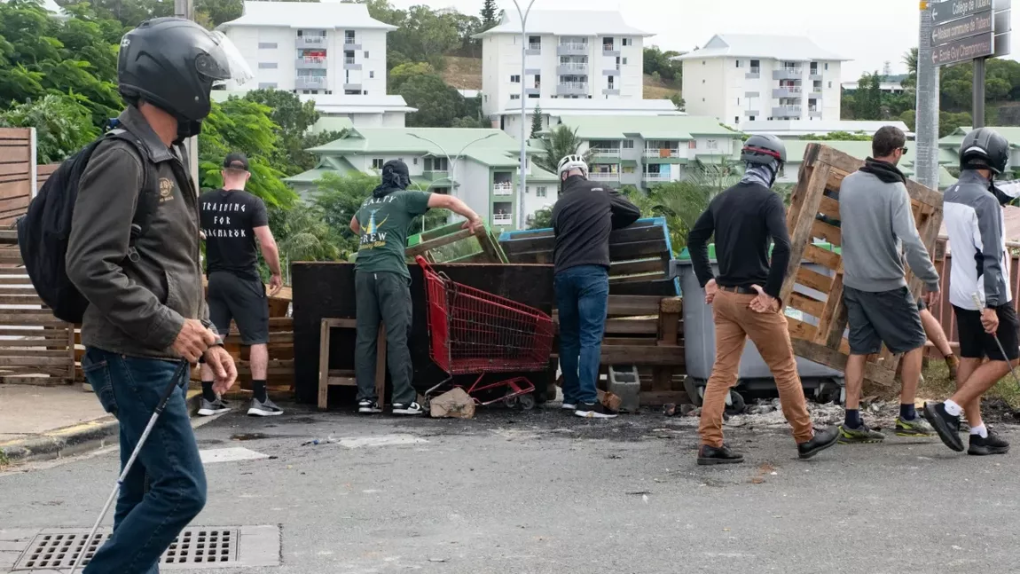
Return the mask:
<path id="1" fill-rule="evenodd" d="M 120 468 L 180 363 L 88 348 L 82 370 L 106 412 L 120 423 Z M 159 572 L 159 557 L 205 506 L 205 470 L 188 415 L 189 369 L 120 485 L 113 534 L 85 574 Z"/>

